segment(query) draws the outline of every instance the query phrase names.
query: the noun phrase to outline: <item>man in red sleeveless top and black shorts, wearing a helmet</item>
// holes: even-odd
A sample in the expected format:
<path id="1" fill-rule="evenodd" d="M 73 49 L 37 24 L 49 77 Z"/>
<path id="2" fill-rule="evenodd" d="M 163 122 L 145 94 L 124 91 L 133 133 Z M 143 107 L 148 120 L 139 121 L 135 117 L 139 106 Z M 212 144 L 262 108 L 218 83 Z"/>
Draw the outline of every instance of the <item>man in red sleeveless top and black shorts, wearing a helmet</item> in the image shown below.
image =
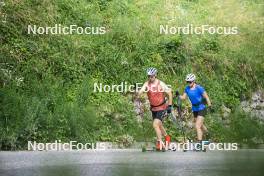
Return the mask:
<path id="1" fill-rule="evenodd" d="M 138 95 L 140 96 L 143 92 L 147 92 L 153 117 L 153 128 L 157 135 L 156 149 L 160 150 L 162 148 L 162 136 L 165 137 L 165 144 L 170 143 L 170 136 L 167 135 L 162 121 L 166 113 L 171 113 L 172 92 L 164 82 L 157 79 L 157 69 L 147 69 L 147 75 L 148 81 L 144 83 Z M 166 102 L 166 96 L 169 98 L 168 103 Z"/>

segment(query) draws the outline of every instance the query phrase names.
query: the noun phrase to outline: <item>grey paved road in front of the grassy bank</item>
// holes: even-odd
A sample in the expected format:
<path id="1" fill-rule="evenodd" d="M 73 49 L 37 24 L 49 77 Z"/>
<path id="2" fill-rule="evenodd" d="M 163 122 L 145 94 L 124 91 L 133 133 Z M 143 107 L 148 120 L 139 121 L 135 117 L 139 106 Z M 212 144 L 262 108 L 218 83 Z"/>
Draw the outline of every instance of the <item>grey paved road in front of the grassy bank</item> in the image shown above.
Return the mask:
<path id="1" fill-rule="evenodd" d="M 2 176 L 264 175 L 264 150 L 0 152 Z"/>

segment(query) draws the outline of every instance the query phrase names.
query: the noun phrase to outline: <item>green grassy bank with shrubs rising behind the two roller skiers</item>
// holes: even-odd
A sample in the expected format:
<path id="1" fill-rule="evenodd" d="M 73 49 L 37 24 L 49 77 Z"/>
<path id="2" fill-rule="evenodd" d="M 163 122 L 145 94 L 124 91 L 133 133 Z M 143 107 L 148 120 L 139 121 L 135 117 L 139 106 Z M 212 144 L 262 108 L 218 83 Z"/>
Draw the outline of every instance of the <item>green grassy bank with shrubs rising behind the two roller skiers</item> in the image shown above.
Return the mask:
<path id="1" fill-rule="evenodd" d="M 94 83 L 144 82 L 145 69 L 183 92 L 193 72 L 210 98 L 215 141 L 254 143 L 263 123 L 239 110 L 264 83 L 262 0 L 5 0 L 0 23 L 0 148 L 27 141 L 142 141 L 131 97 Z M 104 26 L 101 35 L 28 34 L 28 25 Z M 235 26 L 237 35 L 160 34 L 160 25 Z M 221 107 L 231 109 L 229 124 Z M 188 102 L 185 108 L 190 111 Z M 150 119 L 151 117 L 147 117 Z M 151 121 L 145 120 L 151 128 Z M 180 135 L 170 122 L 173 138 Z M 146 127 L 148 128 L 148 127 Z M 153 140 L 154 132 L 146 134 Z"/>

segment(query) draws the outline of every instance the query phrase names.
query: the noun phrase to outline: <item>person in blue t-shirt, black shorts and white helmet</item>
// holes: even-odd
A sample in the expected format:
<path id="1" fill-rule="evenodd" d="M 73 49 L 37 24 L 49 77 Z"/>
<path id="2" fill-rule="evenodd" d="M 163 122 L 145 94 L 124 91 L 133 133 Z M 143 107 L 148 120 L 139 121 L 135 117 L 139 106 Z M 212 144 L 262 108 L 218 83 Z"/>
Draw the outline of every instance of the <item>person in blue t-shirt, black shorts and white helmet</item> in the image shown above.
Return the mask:
<path id="1" fill-rule="evenodd" d="M 188 96 L 192 103 L 192 111 L 195 118 L 195 128 L 197 132 L 198 141 L 202 141 L 203 133 L 207 132 L 206 126 L 203 124 L 204 116 L 206 115 L 206 106 L 203 99 L 206 100 L 208 107 L 211 107 L 211 101 L 205 92 L 204 88 L 195 82 L 195 75 L 188 74 L 185 81 L 189 84 L 180 98 L 186 99 Z"/>

